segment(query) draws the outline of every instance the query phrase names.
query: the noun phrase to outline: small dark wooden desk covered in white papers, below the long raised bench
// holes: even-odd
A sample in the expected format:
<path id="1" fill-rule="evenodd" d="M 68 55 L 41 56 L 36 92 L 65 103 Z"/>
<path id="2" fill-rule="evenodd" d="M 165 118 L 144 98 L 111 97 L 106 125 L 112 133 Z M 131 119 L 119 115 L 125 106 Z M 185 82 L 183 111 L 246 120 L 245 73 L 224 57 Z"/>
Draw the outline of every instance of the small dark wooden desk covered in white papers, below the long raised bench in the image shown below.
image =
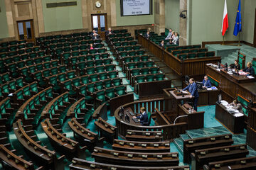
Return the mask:
<path id="1" fill-rule="evenodd" d="M 235 134 L 242 133 L 245 128 L 245 116 L 235 117 L 222 104 L 216 103 L 215 118 Z"/>

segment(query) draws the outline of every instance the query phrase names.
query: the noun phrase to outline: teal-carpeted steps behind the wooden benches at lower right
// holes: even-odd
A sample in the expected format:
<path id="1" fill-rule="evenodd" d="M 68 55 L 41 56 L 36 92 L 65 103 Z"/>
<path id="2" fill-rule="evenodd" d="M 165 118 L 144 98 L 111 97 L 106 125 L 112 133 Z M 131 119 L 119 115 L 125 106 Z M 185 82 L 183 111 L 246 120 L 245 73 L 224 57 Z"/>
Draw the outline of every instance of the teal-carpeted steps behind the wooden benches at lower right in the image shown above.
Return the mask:
<path id="1" fill-rule="evenodd" d="M 183 154 L 183 141 L 194 139 L 198 137 L 210 137 L 215 135 L 224 135 L 228 134 L 230 131 L 228 131 L 223 126 L 218 126 L 214 128 L 203 128 L 203 129 L 196 129 L 196 130 L 186 130 L 185 134 L 181 134 L 180 137 L 174 139 L 174 145 L 178 148 L 179 152 Z M 246 133 L 233 135 L 234 144 L 233 145 L 239 145 L 239 144 L 245 144 L 246 143 Z M 256 151 L 253 150 L 251 147 L 247 146 L 247 149 L 249 150 L 249 154 L 247 157 L 255 157 Z"/>

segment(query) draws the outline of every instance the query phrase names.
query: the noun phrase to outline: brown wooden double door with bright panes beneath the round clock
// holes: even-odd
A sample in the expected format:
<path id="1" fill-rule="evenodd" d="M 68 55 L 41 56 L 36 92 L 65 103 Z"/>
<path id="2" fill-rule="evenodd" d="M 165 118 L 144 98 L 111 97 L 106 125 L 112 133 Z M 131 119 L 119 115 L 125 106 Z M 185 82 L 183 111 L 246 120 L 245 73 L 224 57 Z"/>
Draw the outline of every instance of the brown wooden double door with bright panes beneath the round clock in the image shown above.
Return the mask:
<path id="1" fill-rule="evenodd" d="M 105 38 L 105 30 L 107 30 L 107 13 L 92 14 L 92 30 L 96 30 L 101 38 Z"/>

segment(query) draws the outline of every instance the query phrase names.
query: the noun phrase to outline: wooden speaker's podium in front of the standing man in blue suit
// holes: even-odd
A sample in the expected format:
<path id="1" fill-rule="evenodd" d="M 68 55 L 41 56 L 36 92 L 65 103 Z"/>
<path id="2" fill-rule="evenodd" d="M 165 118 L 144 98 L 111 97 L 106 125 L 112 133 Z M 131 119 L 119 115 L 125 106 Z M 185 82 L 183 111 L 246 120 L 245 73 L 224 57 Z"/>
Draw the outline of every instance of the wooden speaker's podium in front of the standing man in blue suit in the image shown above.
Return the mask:
<path id="1" fill-rule="evenodd" d="M 164 89 L 164 110 L 178 114 L 178 104 L 180 104 L 181 101 L 184 103 L 186 101 L 192 101 L 190 96 L 191 94 L 188 91 L 182 92 L 175 88 Z"/>

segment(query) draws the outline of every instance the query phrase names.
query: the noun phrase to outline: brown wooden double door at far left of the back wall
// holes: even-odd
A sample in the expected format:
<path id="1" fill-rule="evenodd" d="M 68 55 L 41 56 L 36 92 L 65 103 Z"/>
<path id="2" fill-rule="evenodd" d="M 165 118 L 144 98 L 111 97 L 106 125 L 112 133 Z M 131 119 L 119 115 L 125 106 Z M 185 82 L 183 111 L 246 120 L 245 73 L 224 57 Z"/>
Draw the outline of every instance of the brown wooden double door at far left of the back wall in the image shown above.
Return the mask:
<path id="1" fill-rule="evenodd" d="M 18 39 L 26 40 L 27 42 L 35 42 L 33 31 L 33 21 L 18 21 Z"/>

